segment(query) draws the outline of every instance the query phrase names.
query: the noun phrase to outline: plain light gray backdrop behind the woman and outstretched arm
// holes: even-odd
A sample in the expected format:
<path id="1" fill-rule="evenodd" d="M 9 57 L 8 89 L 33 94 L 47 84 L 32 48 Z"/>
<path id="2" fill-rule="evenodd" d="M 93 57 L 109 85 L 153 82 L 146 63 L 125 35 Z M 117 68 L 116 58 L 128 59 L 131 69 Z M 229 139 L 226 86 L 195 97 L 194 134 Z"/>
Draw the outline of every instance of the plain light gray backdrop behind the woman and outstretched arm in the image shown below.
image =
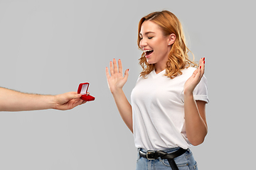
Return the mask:
<path id="1" fill-rule="evenodd" d="M 199 169 L 254 166 L 255 8 L 250 1 L 0 0 L 0 86 L 37 94 L 96 97 L 71 111 L 0 113 L 0 169 L 135 169 L 137 150 L 107 87 L 120 58 L 130 93 L 141 68 L 139 19 L 153 11 L 180 19 L 196 60 L 206 57 L 210 103 Z"/>

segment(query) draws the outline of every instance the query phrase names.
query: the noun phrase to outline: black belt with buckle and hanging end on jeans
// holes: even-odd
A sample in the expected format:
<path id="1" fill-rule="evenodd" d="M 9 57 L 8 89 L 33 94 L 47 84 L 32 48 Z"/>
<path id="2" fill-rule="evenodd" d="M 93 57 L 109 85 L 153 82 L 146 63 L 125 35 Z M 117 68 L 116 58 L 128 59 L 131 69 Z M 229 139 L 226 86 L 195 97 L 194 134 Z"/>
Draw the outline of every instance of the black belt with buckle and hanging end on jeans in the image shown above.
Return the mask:
<path id="1" fill-rule="evenodd" d="M 172 152 L 171 154 L 168 154 L 164 151 L 151 151 L 148 150 L 146 151 L 146 153 L 139 151 L 139 155 L 141 157 L 144 157 L 148 160 L 154 160 L 154 159 L 158 159 L 159 157 L 161 159 L 167 159 L 171 169 L 172 170 L 178 170 L 178 166 L 176 165 L 176 163 L 174 162 L 174 158 L 181 156 L 181 154 L 184 154 L 187 151 L 187 149 L 178 149 L 176 152 Z"/>

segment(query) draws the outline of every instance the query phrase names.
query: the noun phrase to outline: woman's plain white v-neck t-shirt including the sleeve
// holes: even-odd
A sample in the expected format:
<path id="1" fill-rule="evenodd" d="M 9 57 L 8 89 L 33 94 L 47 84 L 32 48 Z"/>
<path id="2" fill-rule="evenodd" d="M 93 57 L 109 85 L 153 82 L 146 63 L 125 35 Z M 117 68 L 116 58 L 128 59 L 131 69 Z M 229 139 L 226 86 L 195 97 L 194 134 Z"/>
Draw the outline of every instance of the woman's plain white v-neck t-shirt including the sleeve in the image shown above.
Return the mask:
<path id="1" fill-rule="evenodd" d="M 135 147 L 162 150 L 191 146 L 184 127 L 183 86 L 194 71 L 188 67 L 174 79 L 164 76 L 165 70 L 139 77 L 131 94 Z M 205 76 L 194 89 L 193 97 L 208 103 Z"/>

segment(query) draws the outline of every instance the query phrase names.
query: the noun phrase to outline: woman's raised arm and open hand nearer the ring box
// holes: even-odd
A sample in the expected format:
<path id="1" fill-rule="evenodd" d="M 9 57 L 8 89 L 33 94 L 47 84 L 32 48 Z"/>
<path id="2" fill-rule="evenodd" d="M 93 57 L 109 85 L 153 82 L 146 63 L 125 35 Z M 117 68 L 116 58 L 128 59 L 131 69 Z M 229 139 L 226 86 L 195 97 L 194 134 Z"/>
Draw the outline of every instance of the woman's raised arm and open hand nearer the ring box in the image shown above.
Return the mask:
<path id="1" fill-rule="evenodd" d="M 118 69 L 117 69 L 117 62 L 115 59 L 113 60 L 113 63 L 110 62 L 110 74 L 109 74 L 109 69 L 106 67 L 107 84 L 114 97 L 114 101 L 117 105 L 117 109 L 122 119 L 124 120 L 124 123 L 127 125 L 129 130 L 133 132 L 132 106 L 127 100 L 127 97 L 125 96 L 124 91 L 122 91 L 122 87 L 124 86 L 124 84 L 128 79 L 128 72 L 129 72 L 129 69 L 127 69 L 124 72 L 124 77 L 123 77 L 121 60 L 118 60 Z"/>

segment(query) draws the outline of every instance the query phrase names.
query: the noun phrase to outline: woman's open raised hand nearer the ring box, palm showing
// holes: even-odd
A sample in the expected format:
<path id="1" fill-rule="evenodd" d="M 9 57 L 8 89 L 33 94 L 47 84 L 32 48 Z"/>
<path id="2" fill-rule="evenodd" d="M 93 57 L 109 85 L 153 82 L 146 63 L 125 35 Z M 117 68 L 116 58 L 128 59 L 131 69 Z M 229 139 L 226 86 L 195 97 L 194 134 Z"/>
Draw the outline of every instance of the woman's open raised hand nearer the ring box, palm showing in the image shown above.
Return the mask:
<path id="1" fill-rule="evenodd" d="M 107 84 L 110 88 L 111 93 L 113 94 L 115 91 L 122 89 L 124 84 L 126 83 L 129 75 L 129 69 L 125 70 L 124 76 L 122 74 L 122 62 L 118 60 L 118 68 L 117 61 L 113 59 L 113 62 L 110 62 L 110 73 L 109 69 L 106 67 L 106 76 L 107 76 Z"/>

